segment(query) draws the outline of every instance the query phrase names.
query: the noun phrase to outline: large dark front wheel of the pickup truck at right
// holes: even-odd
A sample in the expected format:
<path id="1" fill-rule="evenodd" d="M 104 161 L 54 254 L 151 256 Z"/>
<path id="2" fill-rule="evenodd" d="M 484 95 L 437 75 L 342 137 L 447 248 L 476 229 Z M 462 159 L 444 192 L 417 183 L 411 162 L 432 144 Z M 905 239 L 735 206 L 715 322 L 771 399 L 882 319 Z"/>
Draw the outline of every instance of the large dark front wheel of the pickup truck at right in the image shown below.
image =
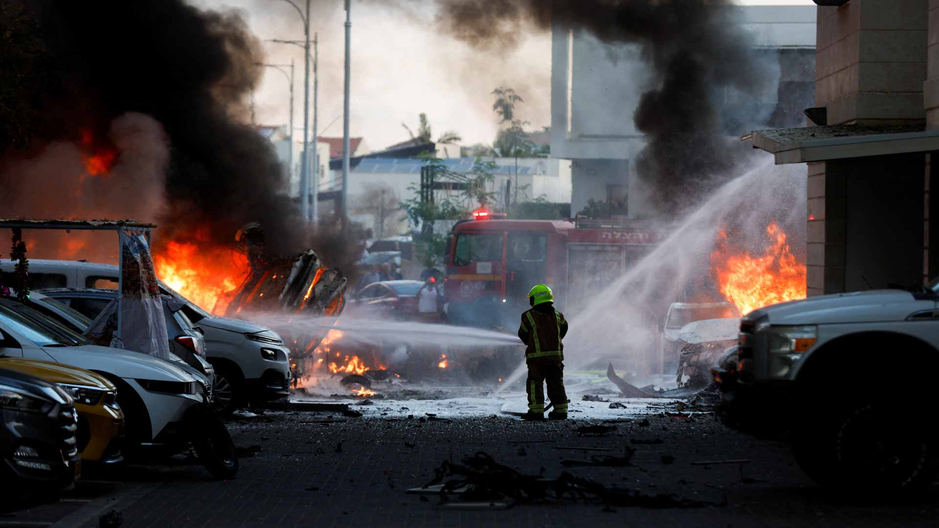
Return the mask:
<path id="1" fill-rule="evenodd" d="M 906 496 L 939 473 L 939 443 L 902 404 L 839 401 L 793 437 L 799 467 L 819 484 L 862 496 Z"/>

